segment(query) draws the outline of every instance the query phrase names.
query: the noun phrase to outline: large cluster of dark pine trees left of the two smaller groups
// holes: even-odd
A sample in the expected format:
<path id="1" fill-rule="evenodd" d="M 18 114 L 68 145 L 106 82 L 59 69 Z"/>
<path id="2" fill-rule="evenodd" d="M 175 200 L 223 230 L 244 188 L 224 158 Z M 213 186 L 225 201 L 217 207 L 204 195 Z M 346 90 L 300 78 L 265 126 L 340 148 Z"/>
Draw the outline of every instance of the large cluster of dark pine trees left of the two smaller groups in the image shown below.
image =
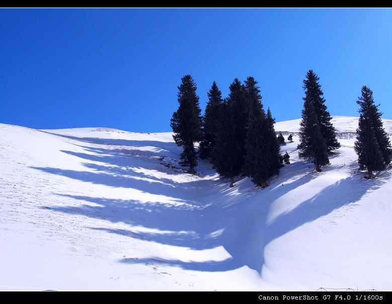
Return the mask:
<path id="1" fill-rule="evenodd" d="M 240 174 L 265 187 L 279 173 L 283 161 L 289 163 L 289 155 L 283 159 L 279 154 L 275 120 L 269 109 L 264 111 L 257 81 L 248 77 L 241 83 L 235 78 L 229 89 L 229 96 L 222 98 L 214 81 L 201 117 L 194 80 L 190 75 L 181 78 L 179 107 L 170 124 L 176 144 L 183 147 L 180 164 L 189 165 L 189 173 L 194 173 L 194 143 L 199 142 L 200 157 L 210 159 L 219 174 L 230 179 L 231 187 Z"/>

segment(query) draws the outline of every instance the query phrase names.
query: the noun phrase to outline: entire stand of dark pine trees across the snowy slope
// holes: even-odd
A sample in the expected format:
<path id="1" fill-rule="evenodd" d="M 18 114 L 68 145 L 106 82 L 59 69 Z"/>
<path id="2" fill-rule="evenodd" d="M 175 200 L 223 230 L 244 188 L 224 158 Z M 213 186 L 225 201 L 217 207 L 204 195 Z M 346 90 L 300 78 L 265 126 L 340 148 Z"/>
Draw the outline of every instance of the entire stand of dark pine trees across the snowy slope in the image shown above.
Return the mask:
<path id="1" fill-rule="evenodd" d="M 307 72 L 298 145 L 299 156 L 313 162 L 318 172 L 329 164 L 332 150 L 340 147 L 319 80 L 313 70 Z M 226 98 L 222 98 L 214 81 L 203 117 L 196 88 L 190 75 L 181 78 L 179 107 L 171 118 L 173 138 L 183 147 L 180 165 L 189 166 L 189 173 L 194 173 L 198 164 L 194 144 L 199 142 L 200 158 L 210 159 L 218 172 L 230 179 L 231 187 L 234 177 L 241 174 L 259 186 L 267 186 L 283 163 L 290 163 L 290 156 L 287 152 L 279 153 L 285 140 L 281 133 L 276 137 L 275 119 L 269 108 L 267 113 L 264 111 L 257 81 L 248 77 L 241 83 L 235 78 Z M 369 177 L 372 171 L 383 170 L 392 161 L 392 148 L 380 118 L 382 113 L 374 104 L 372 94 L 369 88 L 362 87 L 362 96 L 357 101 L 360 118 L 355 142 L 358 163 L 361 169 L 367 169 Z M 292 142 L 292 135 L 287 140 Z"/>

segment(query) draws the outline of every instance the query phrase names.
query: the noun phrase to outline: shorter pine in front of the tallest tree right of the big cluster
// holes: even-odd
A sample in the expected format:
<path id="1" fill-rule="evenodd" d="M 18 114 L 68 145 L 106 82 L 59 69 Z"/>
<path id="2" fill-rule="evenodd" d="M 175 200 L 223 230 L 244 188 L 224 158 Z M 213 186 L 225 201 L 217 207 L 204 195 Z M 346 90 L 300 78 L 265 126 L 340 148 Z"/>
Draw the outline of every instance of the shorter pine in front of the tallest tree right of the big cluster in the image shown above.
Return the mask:
<path id="1" fill-rule="evenodd" d="M 315 108 L 309 99 L 305 99 L 300 126 L 299 156 L 312 161 L 316 171 L 320 172 L 321 166 L 329 164 L 328 148 L 321 134 Z"/>

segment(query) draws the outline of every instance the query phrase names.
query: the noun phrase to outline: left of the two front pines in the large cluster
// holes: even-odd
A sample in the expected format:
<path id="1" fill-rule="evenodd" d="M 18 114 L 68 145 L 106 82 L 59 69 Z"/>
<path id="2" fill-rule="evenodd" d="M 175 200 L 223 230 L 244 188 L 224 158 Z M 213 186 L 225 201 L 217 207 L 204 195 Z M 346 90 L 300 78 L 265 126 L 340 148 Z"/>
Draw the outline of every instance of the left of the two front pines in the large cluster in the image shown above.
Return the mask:
<path id="1" fill-rule="evenodd" d="M 219 107 L 215 146 L 212 151 L 214 165 L 219 174 L 230 178 L 230 187 L 233 187 L 234 177 L 241 173 L 243 161 L 241 148 L 235 135 L 233 114 L 231 99 L 225 99 Z"/>

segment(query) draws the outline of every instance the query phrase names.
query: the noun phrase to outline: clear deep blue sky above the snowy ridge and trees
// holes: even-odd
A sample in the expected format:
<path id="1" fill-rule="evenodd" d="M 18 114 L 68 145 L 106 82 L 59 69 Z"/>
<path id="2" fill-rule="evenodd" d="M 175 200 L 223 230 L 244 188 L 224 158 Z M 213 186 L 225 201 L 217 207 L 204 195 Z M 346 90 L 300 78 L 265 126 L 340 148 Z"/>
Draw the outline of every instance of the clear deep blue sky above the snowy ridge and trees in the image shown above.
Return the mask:
<path id="1" fill-rule="evenodd" d="M 217 81 L 259 81 L 277 121 L 301 116 L 321 78 L 332 115 L 357 116 L 362 85 L 392 119 L 392 10 L 0 10 L 0 123 L 171 131 L 181 76 L 204 111 Z"/>

